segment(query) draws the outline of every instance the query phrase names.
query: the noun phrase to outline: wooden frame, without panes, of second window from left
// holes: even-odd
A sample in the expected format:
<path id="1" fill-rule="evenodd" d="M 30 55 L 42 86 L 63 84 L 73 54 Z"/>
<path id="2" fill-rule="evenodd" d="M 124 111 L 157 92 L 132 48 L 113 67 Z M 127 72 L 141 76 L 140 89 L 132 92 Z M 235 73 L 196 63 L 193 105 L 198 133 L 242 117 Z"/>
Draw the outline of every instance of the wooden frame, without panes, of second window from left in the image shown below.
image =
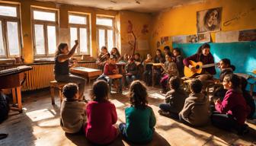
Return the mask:
<path id="1" fill-rule="evenodd" d="M 32 35 L 33 35 L 33 48 L 34 48 L 34 57 L 40 58 L 40 57 L 53 57 L 53 54 L 49 54 L 49 48 L 48 48 L 48 36 L 47 36 L 47 26 L 54 26 L 56 28 L 56 47 L 59 44 L 59 22 L 58 22 L 58 9 L 49 9 L 49 8 L 37 8 L 34 6 L 31 6 L 31 25 L 32 25 Z M 34 19 L 34 11 L 43 11 L 43 12 L 51 12 L 55 13 L 55 21 L 42 21 L 42 20 L 35 20 Z M 35 25 L 43 25 L 43 37 L 44 37 L 44 51 L 45 54 L 37 54 L 37 48 L 36 48 L 36 37 L 35 37 Z"/>

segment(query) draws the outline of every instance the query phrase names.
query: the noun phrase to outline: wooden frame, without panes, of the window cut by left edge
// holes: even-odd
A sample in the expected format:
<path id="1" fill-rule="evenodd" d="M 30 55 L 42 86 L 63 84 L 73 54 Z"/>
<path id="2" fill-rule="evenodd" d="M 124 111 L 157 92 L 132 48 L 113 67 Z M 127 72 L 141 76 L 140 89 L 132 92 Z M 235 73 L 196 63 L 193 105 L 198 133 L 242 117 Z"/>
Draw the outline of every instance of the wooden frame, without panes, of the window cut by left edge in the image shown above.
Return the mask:
<path id="1" fill-rule="evenodd" d="M 3 46 L 4 46 L 4 51 L 5 55 L 0 55 L 0 59 L 8 59 L 14 56 L 21 56 L 21 17 L 20 17 L 20 5 L 19 4 L 8 4 L 8 3 L 0 3 L 2 6 L 9 6 L 9 7 L 15 7 L 16 8 L 16 17 L 12 16 L 2 16 L 0 15 L 0 21 L 2 22 L 2 38 L 3 38 Z M 10 49 L 8 45 L 8 28 L 7 28 L 7 22 L 17 22 L 18 26 L 18 50 L 19 54 L 18 55 L 10 55 Z"/>

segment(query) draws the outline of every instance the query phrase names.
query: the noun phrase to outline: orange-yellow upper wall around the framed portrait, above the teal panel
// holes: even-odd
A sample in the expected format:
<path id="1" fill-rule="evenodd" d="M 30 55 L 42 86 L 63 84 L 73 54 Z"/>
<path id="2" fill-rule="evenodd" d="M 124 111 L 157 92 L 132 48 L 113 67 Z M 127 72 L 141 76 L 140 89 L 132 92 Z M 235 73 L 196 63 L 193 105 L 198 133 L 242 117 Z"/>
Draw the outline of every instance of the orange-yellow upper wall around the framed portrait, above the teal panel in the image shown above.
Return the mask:
<path id="1" fill-rule="evenodd" d="M 206 0 L 206 2 L 172 8 L 155 14 L 152 24 L 152 53 L 155 54 L 156 43 L 161 37 L 189 35 L 197 33 L 197 11 L 222 7 L 222 31 L 248 30 L 256 28 L 255 0 Z M 228 26 L 223 23 L 239 17 Z M 215 42 L 215 33 L 211 33 Z"/>

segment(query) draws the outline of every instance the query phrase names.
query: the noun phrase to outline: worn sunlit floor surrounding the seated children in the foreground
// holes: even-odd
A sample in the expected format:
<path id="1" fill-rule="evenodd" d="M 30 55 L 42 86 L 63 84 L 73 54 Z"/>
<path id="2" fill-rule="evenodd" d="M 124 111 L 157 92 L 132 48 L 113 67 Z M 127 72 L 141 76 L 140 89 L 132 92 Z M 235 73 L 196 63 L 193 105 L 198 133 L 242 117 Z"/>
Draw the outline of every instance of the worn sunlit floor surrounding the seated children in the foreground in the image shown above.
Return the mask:
<path id="1" fill-rule="evenodd" d="M 87 87 L 89 90 L 90 87 Z M 88 94 L 88 90 L 85 93 Z M 159 103 L 164 97 L 158 88 L 149 87 L 149 105 L 157 119 L 153 141 L 148 145 L 256 145 L 256 125 L 248 123 L 250 133 L 238 136 L 225 132 L 212 125 L 194 129 L 173 119 L 158 114 Z M 117 106 L 118 122 L 125 122 L 124 108 L 130 106 L 129 99 L 123 94 L 111 94 L 110 100 Z M 87 97 L 88 98 L 88 97 Z M 8 120 L 0 125 L 0 133 L 8 133 L 8 138 L 0 140 L 2 146 L 14 145 L 91 145 L 84 135 L 68 135 L 59 126 L 59 99 L 51 104 L 49 90 L 24 93 L 24 113 L 11 112 Z M 111 145 L 130 145 L 121 136 Z M 132 144 L 133 145 L 133 144 Z"/>

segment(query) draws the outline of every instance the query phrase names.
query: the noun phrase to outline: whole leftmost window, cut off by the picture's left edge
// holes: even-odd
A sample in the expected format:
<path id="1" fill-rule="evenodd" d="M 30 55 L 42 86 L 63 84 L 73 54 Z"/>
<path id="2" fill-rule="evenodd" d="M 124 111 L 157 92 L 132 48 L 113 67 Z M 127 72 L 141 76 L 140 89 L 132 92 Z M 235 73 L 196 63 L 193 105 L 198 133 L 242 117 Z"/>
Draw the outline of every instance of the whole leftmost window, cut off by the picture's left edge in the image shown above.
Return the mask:
<path id="1" fill-rule="evenodd" d="M 21 56 L 19 6 L 0 4 L 0 58 Z"/>

